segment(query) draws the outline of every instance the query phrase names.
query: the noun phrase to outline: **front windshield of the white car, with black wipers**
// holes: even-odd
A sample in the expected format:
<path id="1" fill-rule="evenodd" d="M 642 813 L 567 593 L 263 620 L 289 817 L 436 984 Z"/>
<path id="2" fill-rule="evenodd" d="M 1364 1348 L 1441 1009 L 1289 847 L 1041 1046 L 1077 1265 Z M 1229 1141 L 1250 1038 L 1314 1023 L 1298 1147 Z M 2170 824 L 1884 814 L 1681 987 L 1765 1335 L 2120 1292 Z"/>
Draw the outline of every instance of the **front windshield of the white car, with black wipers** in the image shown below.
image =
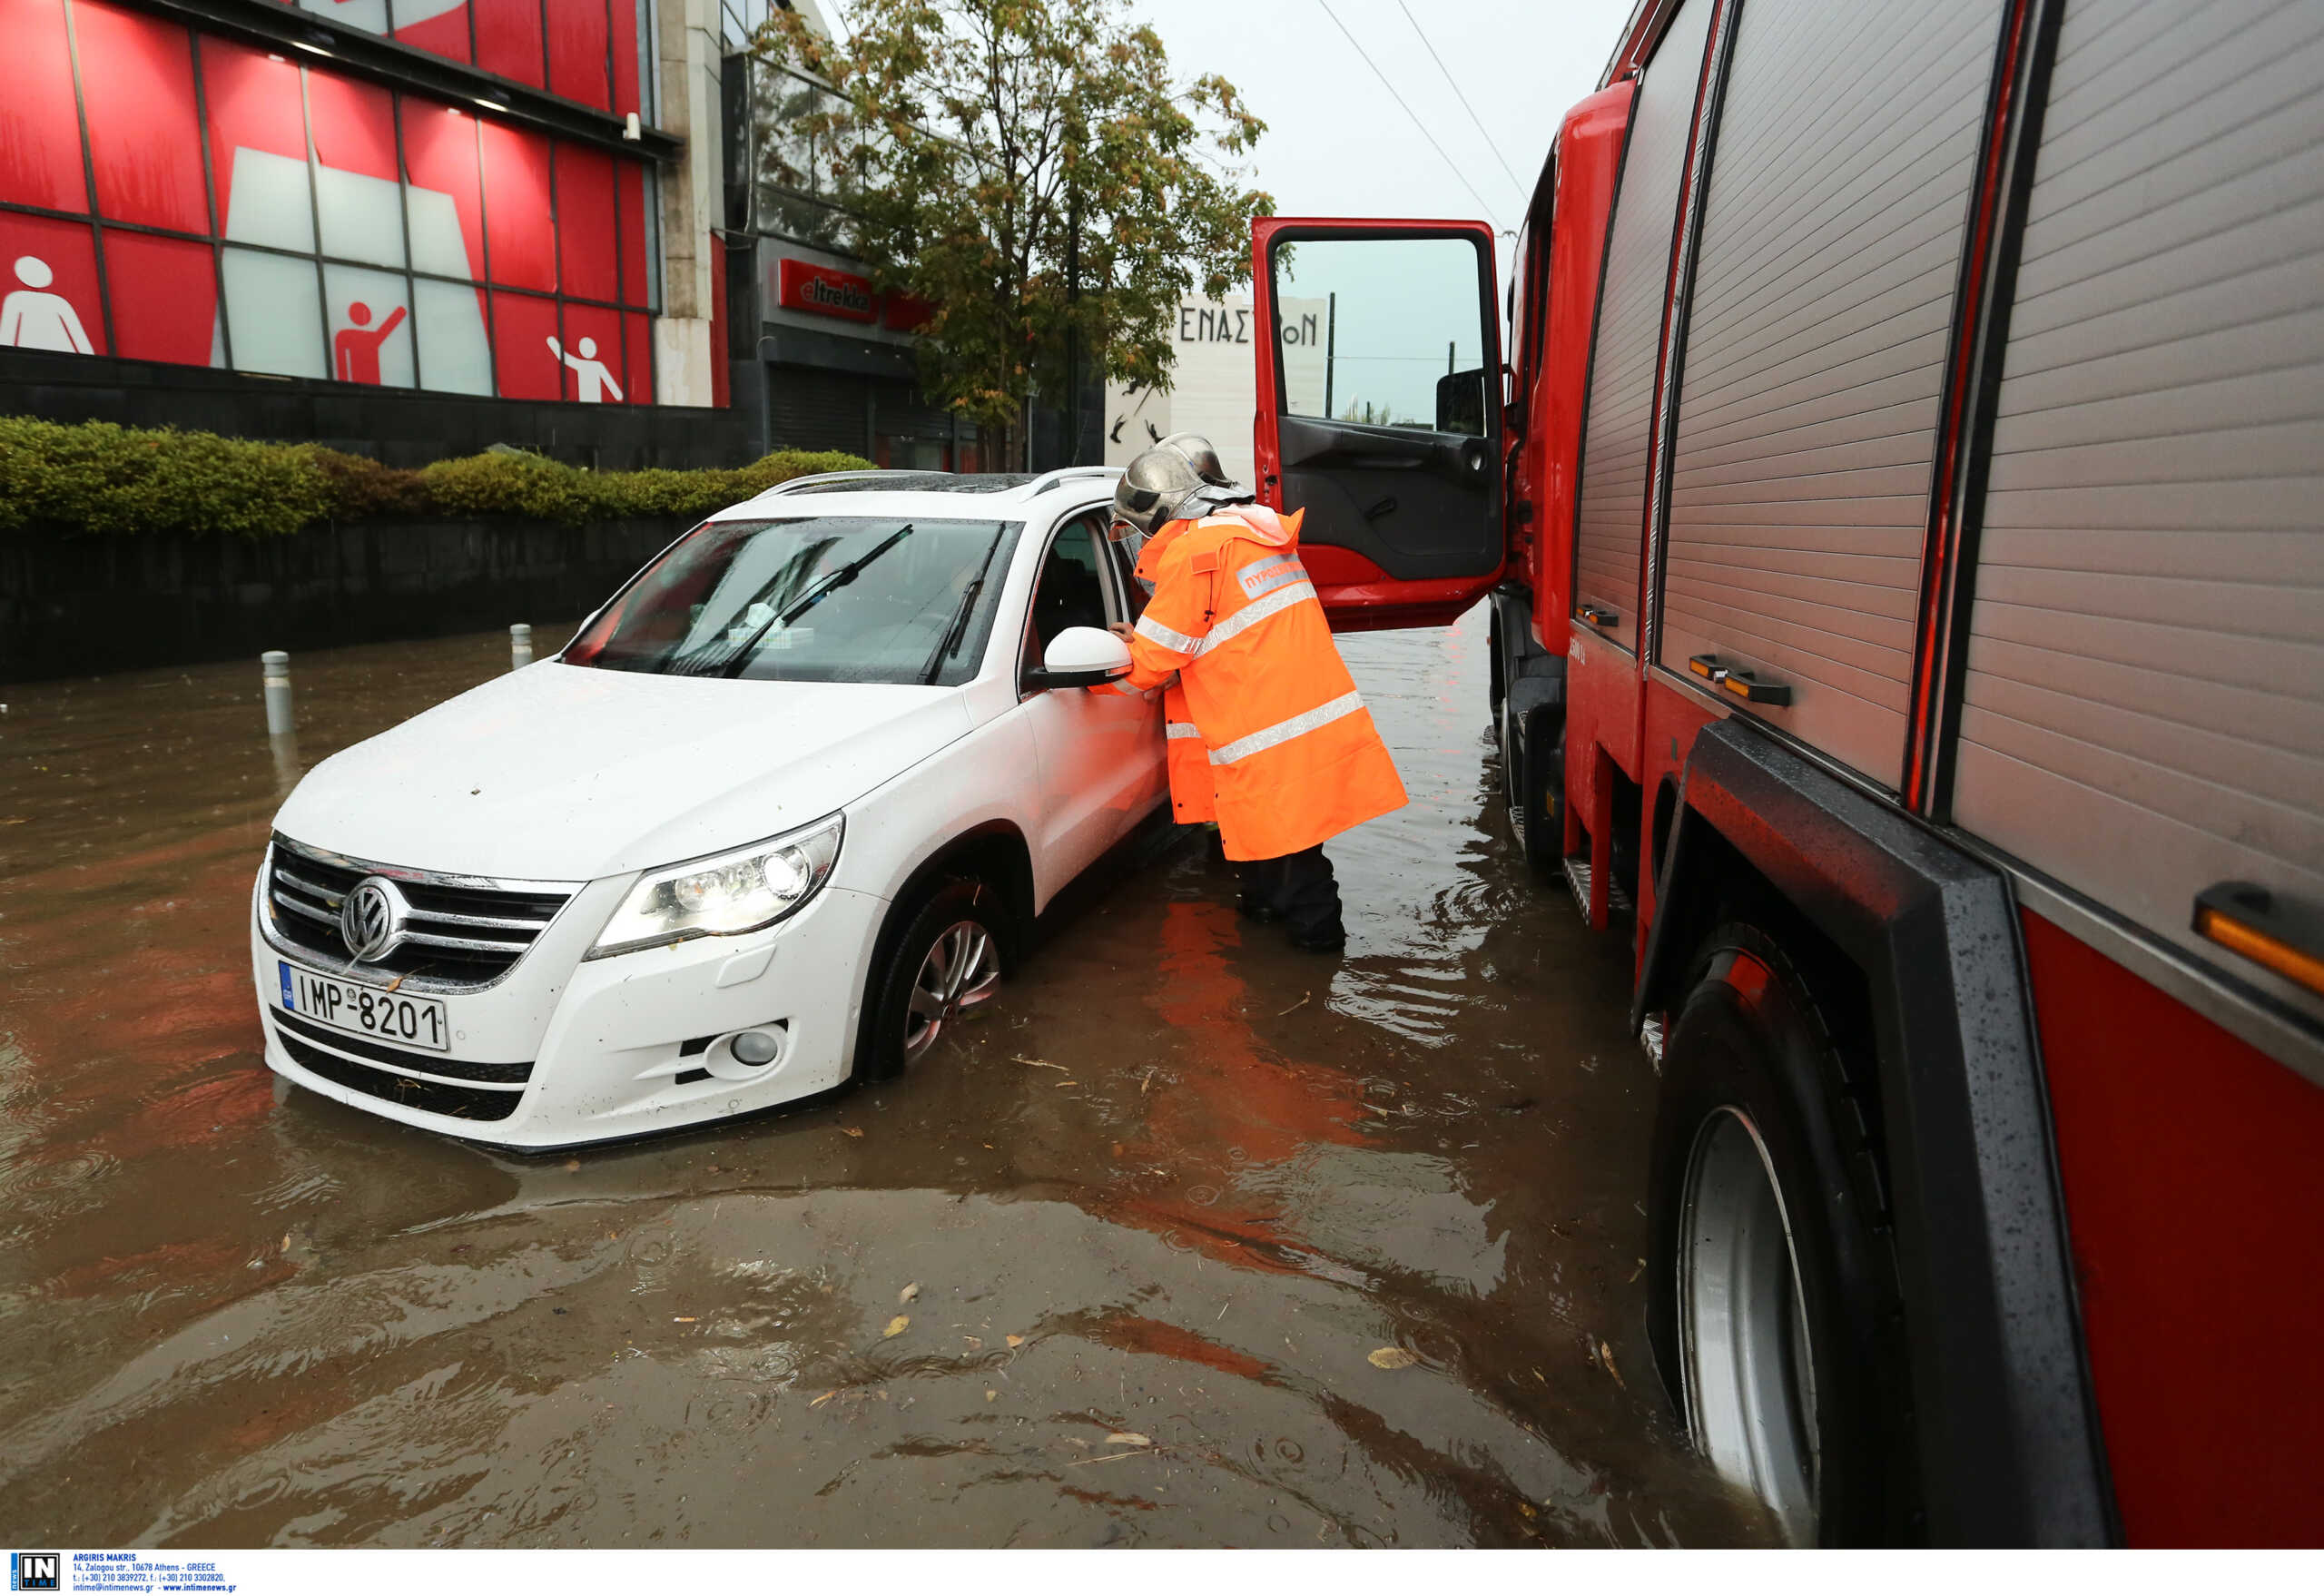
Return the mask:
<path id="1" fill-rule="evenodd" d="M 648 565 L 562 660 L 658 676 L 960 685 L 1023 523 L 713 520 Z"/>

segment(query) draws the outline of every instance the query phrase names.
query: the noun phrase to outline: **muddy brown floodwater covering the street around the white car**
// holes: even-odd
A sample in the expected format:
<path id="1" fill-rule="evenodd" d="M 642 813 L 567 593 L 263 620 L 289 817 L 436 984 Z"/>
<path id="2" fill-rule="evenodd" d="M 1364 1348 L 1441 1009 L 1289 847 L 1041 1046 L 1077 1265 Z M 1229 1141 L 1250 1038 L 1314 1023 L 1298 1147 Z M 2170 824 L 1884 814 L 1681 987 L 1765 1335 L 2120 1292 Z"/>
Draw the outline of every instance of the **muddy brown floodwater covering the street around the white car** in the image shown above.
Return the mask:
<path id="1" fill-rule="evenodd" d="M 0 690 L 0 1536 L 1764 1540 L 1652 1373 L 1624 939 L 1513 857 L 1483 611 L 1343 648 L 1413 797 L 1343 957 L 1162 836 L 909 1080 L 546 1159 L 277 1083 L 244 941 L 300 769 L 504 637 L 293 660 L 295 746 L 256 660 Z"/>

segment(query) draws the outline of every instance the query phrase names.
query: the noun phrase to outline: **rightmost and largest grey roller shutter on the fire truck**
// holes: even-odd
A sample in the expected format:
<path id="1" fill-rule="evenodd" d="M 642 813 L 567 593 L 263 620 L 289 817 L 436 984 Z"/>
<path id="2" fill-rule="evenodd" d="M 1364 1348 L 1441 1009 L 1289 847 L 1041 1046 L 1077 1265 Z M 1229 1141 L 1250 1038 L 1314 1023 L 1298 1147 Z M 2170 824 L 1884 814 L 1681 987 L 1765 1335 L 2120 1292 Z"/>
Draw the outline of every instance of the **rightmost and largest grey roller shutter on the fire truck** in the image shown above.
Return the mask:
<path id="1" fill-rule="evenodd" d="M 2324 14 L 2075 0 L 2027 207 L 1952 818 L 2284 1020 L 2194 934 L 2324 906 Z M 2301 1045 L 2305 1034 L 2305 1045 Z"/>

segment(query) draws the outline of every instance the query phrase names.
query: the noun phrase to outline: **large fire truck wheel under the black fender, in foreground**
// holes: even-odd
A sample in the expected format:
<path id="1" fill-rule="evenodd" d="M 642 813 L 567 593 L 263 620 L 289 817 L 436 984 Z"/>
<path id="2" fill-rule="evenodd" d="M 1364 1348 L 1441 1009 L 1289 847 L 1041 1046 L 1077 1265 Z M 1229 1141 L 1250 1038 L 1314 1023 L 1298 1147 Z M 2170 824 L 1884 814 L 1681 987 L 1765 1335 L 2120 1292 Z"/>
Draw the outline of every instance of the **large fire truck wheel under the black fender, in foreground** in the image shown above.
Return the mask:
<path id="1" fill-rule="evenodd" d="M 1866 1117 L 1810 985 L 1729 925 L 1664 1050 L 1650 1329 L 1710 1464 L 1796 1545 L 1913 1533 L 1901 1313 Z"/>

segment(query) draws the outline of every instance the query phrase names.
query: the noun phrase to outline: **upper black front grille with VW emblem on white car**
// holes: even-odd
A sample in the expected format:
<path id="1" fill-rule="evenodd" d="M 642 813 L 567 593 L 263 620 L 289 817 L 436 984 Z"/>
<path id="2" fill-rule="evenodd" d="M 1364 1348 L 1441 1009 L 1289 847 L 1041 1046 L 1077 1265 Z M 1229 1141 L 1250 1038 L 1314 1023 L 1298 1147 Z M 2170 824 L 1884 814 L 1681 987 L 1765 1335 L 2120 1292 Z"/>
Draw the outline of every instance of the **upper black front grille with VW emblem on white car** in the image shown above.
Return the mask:
<path id="1" fill-rule="evenodd" d="M 351 964 L 339 936 L 339 904 L 356 883 L 386 876 L 411 906 L 404 941 L 365 964 Z M 460 876 L 346 860 L 274 839 L 267 904 L 274 939 L 344 976 L 402 976 L 411 992 L 472 992 L 509 973 L 576 887 L 555 883 L 479 883 Z"/>

